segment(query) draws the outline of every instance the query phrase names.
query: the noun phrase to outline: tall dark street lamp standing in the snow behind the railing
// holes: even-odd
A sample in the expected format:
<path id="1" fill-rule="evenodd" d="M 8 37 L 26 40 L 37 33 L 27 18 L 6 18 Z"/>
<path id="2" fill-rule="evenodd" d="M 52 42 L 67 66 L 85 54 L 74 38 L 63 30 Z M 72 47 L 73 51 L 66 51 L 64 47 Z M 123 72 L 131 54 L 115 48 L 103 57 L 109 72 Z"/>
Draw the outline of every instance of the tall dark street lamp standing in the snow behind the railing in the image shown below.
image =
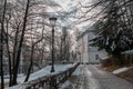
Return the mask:
<path id="1" fill-rule="evenodd" d="M 51 49 L 51 58 L 52 58 L 52 66 L 51 66 L 51 72 L 54 72 L 54 27 L 57 22 L 57 18 L 49 18 L 50 24 L 52 27 L 52 49 Z"/>

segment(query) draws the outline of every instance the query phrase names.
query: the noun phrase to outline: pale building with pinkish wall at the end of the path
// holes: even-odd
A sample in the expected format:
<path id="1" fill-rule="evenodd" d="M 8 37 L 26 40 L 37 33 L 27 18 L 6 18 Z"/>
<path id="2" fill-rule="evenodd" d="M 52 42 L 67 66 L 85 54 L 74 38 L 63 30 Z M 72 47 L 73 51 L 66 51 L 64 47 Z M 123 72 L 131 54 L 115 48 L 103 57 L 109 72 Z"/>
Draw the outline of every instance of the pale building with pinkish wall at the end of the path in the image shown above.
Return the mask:
<path id="1" fill-rule="evenodd" d="M 78 34 L 76 51 L 80 62 L 99 63 L 100 59 L 106 57 L 106 52 L 104 50 L 99 51 L 98 47 L 90 46 L 90 40 L 94 37 L 95 34 L 93 33 L 93 30 L 91 28 Z"/>

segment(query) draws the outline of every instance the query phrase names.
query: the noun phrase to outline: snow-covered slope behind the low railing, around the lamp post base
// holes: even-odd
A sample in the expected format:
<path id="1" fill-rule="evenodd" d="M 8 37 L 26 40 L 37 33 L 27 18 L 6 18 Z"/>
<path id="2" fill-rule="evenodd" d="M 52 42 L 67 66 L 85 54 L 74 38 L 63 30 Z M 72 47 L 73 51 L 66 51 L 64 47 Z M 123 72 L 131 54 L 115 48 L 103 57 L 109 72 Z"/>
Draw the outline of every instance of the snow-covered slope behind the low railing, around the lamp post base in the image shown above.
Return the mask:
<path id="1" fill-rule="evenodd" d="M 34 73 L 31 73 L 30 78 L 29 78 L 29 81 L 32 81 L 32 80 L 37 80 L 39 78 L 42 78 L 42 77 L 45 77 L 45 76 L 50 76 L 50 75 L 53 75 L 53 73 L 58 73 L 58 72 L 61 72 L 61 71 L 65 71 L 66 69 L 71 68 L 75 66 L 75 63 L 71 63 L 71 65 L 55 65 L 54 66 L 54 70 L 55 72 L 50 72 L 51 71 L 51 66 L 48 66 Z M 22 77 L 22 78 L 18 78 L 18 82 L 22 83 L 24 81 L 24 78 L 25 77 Z M 27 85 L 27 83 L 23 83 L 23 85 Z M 18 85 L 18 86 L 14 86 L 14 87 L 11 87 L 11 88 L 7 88 L 7 89 L 24 89 L 24 86 L 22 85 Z"/>

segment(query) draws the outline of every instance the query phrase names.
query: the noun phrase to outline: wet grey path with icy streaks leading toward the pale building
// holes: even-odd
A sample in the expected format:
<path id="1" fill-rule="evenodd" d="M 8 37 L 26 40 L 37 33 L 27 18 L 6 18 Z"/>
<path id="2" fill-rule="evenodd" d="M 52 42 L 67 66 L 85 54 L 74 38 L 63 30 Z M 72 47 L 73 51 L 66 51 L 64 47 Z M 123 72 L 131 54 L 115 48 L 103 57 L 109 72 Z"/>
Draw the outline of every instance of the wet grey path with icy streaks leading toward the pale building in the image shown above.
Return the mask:
<path id="1" fill-rule="evenodd" d="M 133 83 L 101 70 L 99 66 L 85 66 L 83 76 L 82 89 L 133 89 Z"/>

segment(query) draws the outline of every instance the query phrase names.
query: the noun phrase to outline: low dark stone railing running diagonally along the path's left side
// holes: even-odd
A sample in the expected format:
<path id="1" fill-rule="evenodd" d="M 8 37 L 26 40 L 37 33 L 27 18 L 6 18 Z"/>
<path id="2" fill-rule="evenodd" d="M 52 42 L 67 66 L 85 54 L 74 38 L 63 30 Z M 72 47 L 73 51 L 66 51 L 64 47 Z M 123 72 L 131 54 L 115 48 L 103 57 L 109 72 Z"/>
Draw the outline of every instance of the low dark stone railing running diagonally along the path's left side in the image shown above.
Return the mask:
<path id="1" fill-rule="evenodd" d="M 68 78 L 71 77 L 79 63 L 74 63 L 72 67 L 64 71 L 53 72 L 49 76 L 24 82 L 8 89 L 58 89 Z"/>

